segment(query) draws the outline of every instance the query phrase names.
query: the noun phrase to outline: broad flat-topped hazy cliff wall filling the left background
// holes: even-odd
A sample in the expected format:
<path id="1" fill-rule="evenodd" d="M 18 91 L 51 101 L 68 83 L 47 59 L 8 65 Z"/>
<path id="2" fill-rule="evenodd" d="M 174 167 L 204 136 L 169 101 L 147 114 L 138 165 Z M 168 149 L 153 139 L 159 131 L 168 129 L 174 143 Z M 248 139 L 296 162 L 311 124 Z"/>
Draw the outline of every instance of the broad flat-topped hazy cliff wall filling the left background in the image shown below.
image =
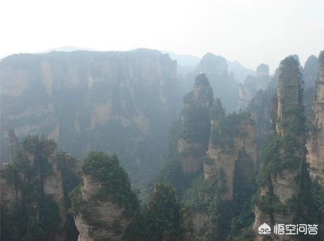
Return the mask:
<path id="1" fill-rule="evenodd" d="M 8 138 L 46 134 L 83 157 L 116 152 L 157 167 L 176 111 L 176 61 L 155 50 L 19 54 L 1 61 L 1 154 Z M 150 172 L 154 171 L 150 170 Z M 136 176 L 136 174 L 134 174 Z"/>

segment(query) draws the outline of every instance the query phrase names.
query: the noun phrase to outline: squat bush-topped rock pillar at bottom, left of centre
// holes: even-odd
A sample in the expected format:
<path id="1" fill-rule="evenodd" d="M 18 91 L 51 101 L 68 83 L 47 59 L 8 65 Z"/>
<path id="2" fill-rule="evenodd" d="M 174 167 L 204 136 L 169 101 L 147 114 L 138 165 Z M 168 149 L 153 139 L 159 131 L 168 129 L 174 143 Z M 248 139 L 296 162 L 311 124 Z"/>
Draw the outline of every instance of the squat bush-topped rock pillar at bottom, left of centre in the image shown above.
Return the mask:
<path id="1" fill-rule="evenodd" d="M 138 210 L 136 195 L 117 156 L 102 152 L 91 152 L 83 160 L 82 182 L 70 198 L 79 241 L 122 240 Z"/>

